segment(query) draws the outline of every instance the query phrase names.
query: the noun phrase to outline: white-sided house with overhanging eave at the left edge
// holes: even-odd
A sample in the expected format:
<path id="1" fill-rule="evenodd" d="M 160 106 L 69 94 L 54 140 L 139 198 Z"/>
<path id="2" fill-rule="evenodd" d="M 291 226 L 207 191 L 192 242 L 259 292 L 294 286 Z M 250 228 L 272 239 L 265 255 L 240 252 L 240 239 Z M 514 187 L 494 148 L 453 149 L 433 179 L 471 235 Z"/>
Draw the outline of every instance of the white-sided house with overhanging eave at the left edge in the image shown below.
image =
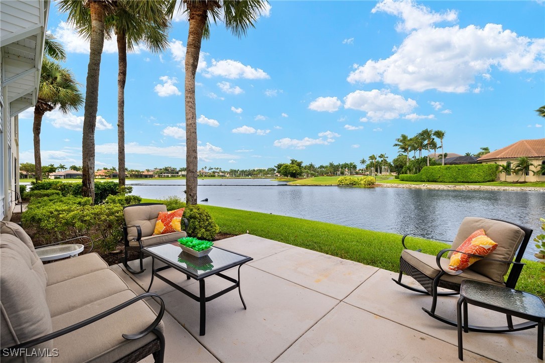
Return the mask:
<path id="1" fill-rule="evenodd" d="M 38 101 L 49 1 L 3 1 L 0 8 L 0 220 L 19 190 L 19 114 Z"/>

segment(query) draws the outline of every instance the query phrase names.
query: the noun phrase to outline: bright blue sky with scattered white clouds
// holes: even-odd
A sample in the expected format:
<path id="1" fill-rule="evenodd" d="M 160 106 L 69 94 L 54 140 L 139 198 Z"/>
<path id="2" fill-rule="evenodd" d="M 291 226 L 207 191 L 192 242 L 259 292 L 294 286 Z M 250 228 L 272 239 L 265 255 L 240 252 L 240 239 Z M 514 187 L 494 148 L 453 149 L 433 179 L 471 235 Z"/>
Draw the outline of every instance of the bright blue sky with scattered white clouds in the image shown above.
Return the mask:
<path id="1" fill-rule="evenodd" d="M 185 166 L 187 21 L 169 49 L 128 56 L 126 167 Z M 84 83 L 88 43 L 52 4 L 49 31 Z M 96 168 L 117 167 L 117 51 L 102 55 Z M 356 162 L 398 155 L 401 134 L 445 131 L 445 152 L 545 137 L 543 2 L 294 2 L 270 8 L 238 39 L 221 23 L 196 77 L 199 167 L 271 167 L 289 159 Z M 21 162 L 33 162 L 32 110 L 20 115 Z M 42 162 L 81 165 L 83 107 L 47 112 Z"/>

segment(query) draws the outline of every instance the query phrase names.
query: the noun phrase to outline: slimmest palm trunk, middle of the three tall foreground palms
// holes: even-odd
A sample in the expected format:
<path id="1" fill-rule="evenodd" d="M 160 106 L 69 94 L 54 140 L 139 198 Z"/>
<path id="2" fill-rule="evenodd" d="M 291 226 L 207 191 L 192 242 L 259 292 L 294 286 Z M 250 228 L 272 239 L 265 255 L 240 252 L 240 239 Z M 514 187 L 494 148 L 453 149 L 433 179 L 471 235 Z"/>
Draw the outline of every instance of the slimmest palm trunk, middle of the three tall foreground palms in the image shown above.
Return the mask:
<path id="1" fill-rule="evenodd" d="M 117 160 L 119 187 L 125 186 L 125 82 L 127 79 L 127 39 L 124 32 L 117 33 Z"/>

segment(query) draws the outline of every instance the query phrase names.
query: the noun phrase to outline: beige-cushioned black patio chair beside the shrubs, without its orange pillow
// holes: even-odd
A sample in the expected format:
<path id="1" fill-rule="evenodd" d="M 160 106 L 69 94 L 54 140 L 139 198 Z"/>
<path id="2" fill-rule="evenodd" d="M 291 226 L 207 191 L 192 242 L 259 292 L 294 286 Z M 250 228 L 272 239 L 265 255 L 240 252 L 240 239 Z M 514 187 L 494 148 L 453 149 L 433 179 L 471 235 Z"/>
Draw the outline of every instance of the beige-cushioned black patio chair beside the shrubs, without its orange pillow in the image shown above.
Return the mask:
<path id="1" fill-rule="evenodd" d="M 123 265 L 131 274 L 141 274 L 146 269 L 143 267 L 142 249 L 147 246 L 154 246 L 161 243 L 176 241 L 180 238 L 187 237 L 188 222 L 185 218 L 184 230 L 181 232 L 173 232 L 166 234 L 154 235 L 155 223 L 157 222 L 159 212 L 166 212 L 165 204 L 160 203 L 140 203 L 126 205 L 123 208 L 125 217 L 125 225 L 123 226 L 123 239 L 125 244 L 125 258 Z M 136 271 L 129 266 L 129 248 L 137 248 L 140 252 L 140 270 Z"/>

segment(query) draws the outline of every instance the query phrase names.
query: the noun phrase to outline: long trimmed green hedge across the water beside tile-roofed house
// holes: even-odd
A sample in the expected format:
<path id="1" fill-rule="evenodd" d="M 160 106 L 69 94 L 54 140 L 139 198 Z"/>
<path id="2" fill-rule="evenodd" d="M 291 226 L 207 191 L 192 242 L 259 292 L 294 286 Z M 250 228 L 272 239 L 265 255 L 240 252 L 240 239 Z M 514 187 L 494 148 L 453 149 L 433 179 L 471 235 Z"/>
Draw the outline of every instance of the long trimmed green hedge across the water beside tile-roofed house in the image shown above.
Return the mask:
<path id="1" fill-rule="evenodd" d="M 496 180 L 497 164 L 425 166 L 418 174 L 401 174 L 402 181 L 435 181 L 440 183 L 486 183 Z"/>

